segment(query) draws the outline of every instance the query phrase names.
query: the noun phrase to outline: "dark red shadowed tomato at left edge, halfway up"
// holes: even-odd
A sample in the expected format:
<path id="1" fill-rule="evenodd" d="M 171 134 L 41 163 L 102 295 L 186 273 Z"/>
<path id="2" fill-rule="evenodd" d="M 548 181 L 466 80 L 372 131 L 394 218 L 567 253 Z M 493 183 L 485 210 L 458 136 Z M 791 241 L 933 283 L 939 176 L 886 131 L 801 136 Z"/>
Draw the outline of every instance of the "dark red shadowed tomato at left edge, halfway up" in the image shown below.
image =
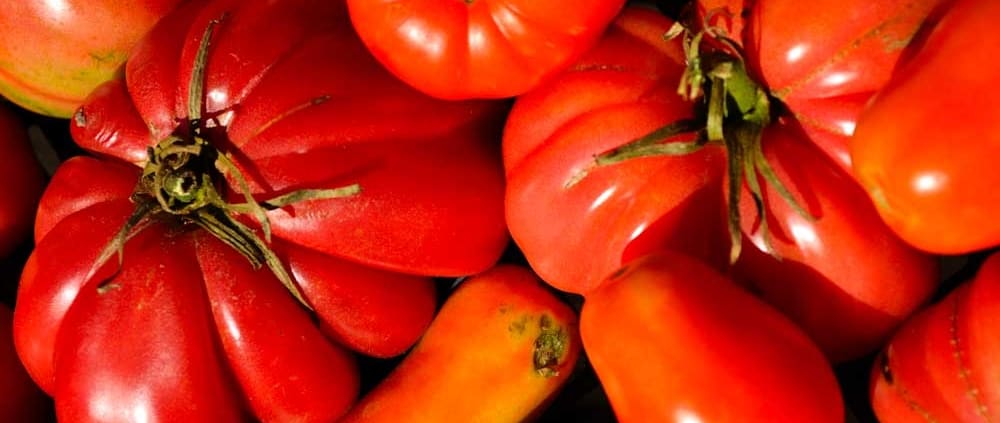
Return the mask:
<path id="1" fill-rule="evenodd" d="M 26 124 L 0 102 L 0 179 L 7 184 L 0 196 L 0 257 L 6 257 L 31 235 L 31 223 L 46 178 L 28 141 Z"/>

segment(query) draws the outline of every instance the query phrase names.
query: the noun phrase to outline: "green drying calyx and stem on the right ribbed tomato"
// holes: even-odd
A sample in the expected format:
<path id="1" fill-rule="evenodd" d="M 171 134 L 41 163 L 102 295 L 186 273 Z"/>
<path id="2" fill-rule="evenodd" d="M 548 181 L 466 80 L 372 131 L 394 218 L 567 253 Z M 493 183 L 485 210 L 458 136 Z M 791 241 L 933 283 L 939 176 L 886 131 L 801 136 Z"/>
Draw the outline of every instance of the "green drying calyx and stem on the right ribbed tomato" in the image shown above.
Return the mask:
<path id="1" fill-rule="evenodd" d="M 734 263 L 741 254 L 742 216 L 739 204 L 744 183 L 754 201 L 756 217 L 761 222 L 759 230 L 765 250 L 780 259 L 770 241 L 767 208 L 758 177 L 774 188 L 797 213 L 810 220 L 813 217 L 792 196 L 764 157 L 761 137 L 764 129 L 771 124 L 771 98 L 767 90 L 750 76 L 739 45 L 722 30 L 707 24 L 704 27 L 705 30 L 692 31 L 678 23 L 665 35 L 666 39 L 684 37 L 686 68 L 677 93 L 698 104 L 696 116 L 672 122 L 600 154 L 595 158 L 595 166 L 613 165 L 639 157 L 691 154 L 709 144 L 725 146 L 726 177 L 729 181 L 730 262 Z M 706 37 L 713 42 L 704 43 Z M 677 139 L 685 134 L 689 135 L 687 139 Z"/>

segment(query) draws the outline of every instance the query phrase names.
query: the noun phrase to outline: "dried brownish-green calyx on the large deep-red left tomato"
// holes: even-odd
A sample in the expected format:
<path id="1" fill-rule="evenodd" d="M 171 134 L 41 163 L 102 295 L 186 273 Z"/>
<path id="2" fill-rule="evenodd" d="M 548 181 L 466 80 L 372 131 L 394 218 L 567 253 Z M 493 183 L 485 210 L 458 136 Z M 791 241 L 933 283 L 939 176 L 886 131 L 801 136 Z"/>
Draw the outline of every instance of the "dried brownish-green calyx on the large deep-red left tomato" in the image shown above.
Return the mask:
<path id="1" fill-rule="evenodd" d="M 238 251 L 255 269 L 267 265 L 289 293 L 311 310 L 270 247 L 271 226 L 266 211 L 300 201 L 355 195 L 360 187 L 353 184 L 334 189 L 298 190 L 262 202 L 254 199 L 235 161 L 208 141 L 202 127 L 205 62 L 212 31 L 219 22 L 221 19 L 209 23 L 199 45 L 190 82 L 187 125 L 180 125 L 178 132 L 148 149 L 149 159 L 131 196 L 135 210 L 98 256 L 90 276 L 115 254 L 120 269 L 125 242 L 129 238 L 154 221 L 173 220 L 204 229 Z M 235 182 L 233 186 L 230 180 Z M 240 193 L 244 202 L 227 202 L 223 193 L 229 190 Z M 258 222 L 263 238 L 239 221 L 241 214 L 250 215 Z M 112 285 L 113 278 L 101 283 L 98 289 L 104 292 Z"/>

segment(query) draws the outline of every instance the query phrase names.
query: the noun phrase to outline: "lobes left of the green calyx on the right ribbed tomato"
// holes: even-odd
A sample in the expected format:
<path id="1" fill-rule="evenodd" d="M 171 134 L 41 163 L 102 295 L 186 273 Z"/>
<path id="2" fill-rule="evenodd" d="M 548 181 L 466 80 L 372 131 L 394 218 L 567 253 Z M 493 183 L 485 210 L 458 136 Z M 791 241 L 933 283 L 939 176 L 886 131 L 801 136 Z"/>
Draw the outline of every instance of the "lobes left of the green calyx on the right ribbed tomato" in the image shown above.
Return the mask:
<path id="1" fill-rule="evenodd" d="M 569 71 L 519 97 L 504 128 L 507 223 L 539 276 L 585 294 L 630 258 L 676 248 L 720 267 L 728 235 L 716 146 L 594 166 L 594 156 L 674 120 L 684 70 L 671 22 L 627 8 Z"/>

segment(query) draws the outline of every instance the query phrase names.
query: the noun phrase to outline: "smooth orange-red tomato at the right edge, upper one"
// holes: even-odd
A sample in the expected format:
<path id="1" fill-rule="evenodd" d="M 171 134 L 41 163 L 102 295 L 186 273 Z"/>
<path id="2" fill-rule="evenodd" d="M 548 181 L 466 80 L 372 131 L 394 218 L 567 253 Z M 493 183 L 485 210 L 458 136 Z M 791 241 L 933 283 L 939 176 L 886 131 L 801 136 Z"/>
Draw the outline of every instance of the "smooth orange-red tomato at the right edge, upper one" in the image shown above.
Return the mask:
<path id="1" fill-rule="evenodd" d="M 907 242 L 961 254 L 1000 245 L 1000 100 L 982 72 L 1000 54 L 1000 5 L 956 1 L 858 122 L 851 154 L 882 218 Z M 929 100 L 931 99 L 931 100 Z"/>

